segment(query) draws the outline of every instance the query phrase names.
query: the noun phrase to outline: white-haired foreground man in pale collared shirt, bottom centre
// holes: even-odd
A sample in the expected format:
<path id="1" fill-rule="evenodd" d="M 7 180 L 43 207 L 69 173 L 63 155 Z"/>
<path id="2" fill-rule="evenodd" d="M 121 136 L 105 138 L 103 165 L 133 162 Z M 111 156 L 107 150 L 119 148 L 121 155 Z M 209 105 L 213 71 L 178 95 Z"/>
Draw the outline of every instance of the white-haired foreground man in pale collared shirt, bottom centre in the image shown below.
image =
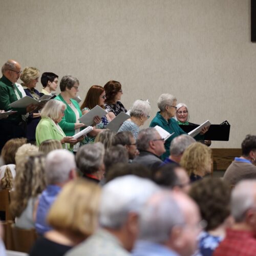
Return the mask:
<path id="1" fill-rule="evenodd" d="M 67 256 L 130 255 L 138 235 L 138 212 L 158 189 L 152 181 L 133 175 L 104 185 L 99 207 L 101 228 Z"/>

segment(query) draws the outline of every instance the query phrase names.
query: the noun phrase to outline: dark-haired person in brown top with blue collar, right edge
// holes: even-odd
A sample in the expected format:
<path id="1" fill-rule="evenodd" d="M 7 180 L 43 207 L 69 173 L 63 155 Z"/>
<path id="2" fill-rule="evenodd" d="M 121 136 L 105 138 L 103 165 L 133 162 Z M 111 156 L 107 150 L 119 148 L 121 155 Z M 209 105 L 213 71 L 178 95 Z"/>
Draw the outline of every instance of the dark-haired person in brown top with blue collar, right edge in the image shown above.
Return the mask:
<path id="1" fill-rule="evenodd" d="M 236 185 L 243 179 L 256 178 L 256 136 L 247 135 L 241 147 L 242 156 L 234 158 L 223 177 L 230 185 Z"/>

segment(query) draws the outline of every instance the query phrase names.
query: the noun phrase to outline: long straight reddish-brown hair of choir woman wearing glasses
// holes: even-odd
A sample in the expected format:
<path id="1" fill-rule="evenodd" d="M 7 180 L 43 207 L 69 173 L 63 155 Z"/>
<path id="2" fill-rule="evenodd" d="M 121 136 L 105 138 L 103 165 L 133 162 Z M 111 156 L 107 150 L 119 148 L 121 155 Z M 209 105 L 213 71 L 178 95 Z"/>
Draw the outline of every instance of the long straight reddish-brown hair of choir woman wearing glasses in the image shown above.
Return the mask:
<path id="1" fill-rule="evenodd" d="M 104 88 L 102 86 L 92 86 L 86 95 L 86 99 L 84 99 L 80 109 L 89 108 L 93 109 L 99 103 L 99 96 L 104 92 Z M 104 109 L 104 105 L 101 106 Z"/>

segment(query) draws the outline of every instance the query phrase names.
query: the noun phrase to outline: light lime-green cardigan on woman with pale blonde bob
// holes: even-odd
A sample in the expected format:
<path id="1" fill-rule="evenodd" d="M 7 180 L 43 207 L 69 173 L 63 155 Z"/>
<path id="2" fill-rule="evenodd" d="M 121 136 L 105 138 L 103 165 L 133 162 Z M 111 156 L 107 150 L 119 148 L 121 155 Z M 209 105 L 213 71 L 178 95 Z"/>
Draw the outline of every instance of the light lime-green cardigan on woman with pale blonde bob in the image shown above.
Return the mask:
<path id="1" fill-rule="evenodd" d="M 35 139 L 36 145 L 39 146 L 45 140 L 61 140 L 65 136 L 57 129 L 54 121 L 50 117 L 42 118 L 36 126 Z M 62 144 L 65 148 L 65 144 Z M 68 144 L 69 148 L 69 144 Z"/>

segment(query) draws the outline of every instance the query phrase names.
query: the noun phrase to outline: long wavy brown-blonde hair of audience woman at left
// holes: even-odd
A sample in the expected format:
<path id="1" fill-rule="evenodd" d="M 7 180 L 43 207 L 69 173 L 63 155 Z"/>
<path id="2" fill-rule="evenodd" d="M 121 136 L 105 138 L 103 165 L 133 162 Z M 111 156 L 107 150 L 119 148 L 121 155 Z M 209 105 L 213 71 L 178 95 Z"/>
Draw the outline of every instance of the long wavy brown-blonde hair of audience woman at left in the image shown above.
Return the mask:
<path id="1" fill-rule="evenodd" d="M 11 214 L 22 215 L 30 198 L 36 198 L 46 187 L 45 155 L 32 153 L 24 164 L 16 165 L 13 197 L 10 204 Z"/>

